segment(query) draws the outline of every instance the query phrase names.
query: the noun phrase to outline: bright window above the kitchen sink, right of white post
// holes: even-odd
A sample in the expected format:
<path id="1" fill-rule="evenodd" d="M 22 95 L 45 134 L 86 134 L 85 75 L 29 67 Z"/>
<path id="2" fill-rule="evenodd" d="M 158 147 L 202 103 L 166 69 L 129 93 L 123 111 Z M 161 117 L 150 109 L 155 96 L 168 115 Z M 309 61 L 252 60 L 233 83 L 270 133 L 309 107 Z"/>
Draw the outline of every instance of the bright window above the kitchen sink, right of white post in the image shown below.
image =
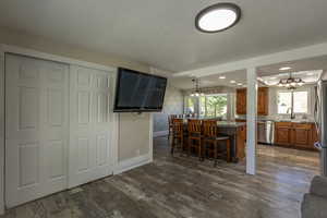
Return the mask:
<path id="1" fill-rule="evenodd" d="M 294 113 L 307 113 L 308 112 L 307 101 L 308 101 L 307 90 L 278 92 L 277 95 L 278 113 L 279 114 L 291 113 L 292 108 Z"/>

